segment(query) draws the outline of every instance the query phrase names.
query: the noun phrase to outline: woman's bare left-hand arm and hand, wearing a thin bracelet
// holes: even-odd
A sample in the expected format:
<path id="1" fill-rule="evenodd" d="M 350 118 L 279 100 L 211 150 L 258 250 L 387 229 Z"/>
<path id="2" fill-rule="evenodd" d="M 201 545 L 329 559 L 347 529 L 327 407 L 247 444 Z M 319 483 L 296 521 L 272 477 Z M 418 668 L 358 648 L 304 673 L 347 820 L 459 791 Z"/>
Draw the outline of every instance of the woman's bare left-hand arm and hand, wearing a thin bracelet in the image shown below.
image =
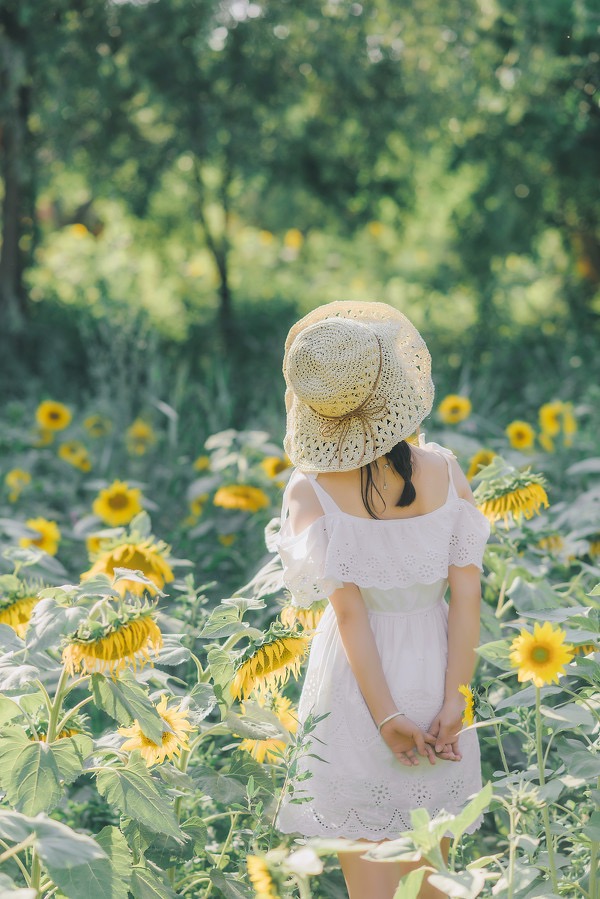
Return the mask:
<path id="1" fill-rule="evenodd" d="M 352 673 L 373 721 L 379 724 L 388 715 L 401 709 L 396 706 L 385 679 L 364 600 L 354 584 L 344 584 L 329 599 L 336 614 Z M 414 755 L 415 748 L 420 755 L 427 756 L 432 764 L 435 762 L 429 745 L 434 742 L 433 736 L 422 731 L 414 721 L 405 716 L 388 721 L 381 729 L 381 736 L 405 765 L 418 764 Z"/>

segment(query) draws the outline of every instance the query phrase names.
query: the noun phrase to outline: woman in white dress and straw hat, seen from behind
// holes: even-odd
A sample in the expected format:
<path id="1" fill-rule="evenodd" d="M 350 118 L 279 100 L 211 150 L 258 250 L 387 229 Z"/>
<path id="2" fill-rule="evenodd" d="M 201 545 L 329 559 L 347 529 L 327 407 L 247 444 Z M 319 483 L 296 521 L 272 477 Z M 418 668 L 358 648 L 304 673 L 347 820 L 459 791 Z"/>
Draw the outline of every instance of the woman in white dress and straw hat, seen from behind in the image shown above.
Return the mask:
<path id="1" fill-rule="evenodd" d="M 322 306 L 286 341 L 296 470 L 276 545 L 294 603 L 329 605 L 299 706 L 301 721 L 324 717 L 295 784 L 307 801 L 282 804 L 285 833 L 368 847 L 409 829 L 412 809 L 457 812 L 481 788 L 458 688 L 475 666 L 489 525 L 453 455 L 406 442 L 431 410 L 430 366 L 418 331 L 383 303 Z M 391 899 L 415 867 L 350 852 L 340 863 L 350 899 Z M 419 895 L 442 894 L 424 882 Z"/>

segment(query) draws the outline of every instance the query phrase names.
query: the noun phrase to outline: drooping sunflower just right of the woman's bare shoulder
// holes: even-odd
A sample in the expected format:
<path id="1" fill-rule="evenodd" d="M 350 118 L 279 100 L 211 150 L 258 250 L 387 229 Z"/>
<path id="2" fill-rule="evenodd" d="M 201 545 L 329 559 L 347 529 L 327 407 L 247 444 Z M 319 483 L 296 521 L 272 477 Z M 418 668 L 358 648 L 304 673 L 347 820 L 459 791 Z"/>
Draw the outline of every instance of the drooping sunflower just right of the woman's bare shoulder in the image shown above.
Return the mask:
<path id="1" fill-rule="evenodd" d="M 496 456 L 482 473 L 474 493 L 475 502 L 492 523 L 503 519 L 508 527 L 511 515 L 520 522 L 522 518 L 539 514 L 542 506 L 548 507 L 544 484 L 541 475 L 532 474 L 529 468 L 518 471 Z"/>

